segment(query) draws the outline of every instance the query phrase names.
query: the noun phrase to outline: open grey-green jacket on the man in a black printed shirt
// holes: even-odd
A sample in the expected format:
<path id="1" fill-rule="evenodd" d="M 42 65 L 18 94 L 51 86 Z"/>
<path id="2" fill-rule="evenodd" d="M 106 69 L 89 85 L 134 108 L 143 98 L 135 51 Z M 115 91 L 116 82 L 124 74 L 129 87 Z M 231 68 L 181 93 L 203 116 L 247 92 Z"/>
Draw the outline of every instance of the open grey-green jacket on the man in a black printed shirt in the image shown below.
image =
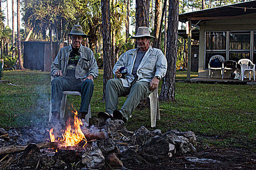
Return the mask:
<path id="1" fill-rule="evenodd" d="M 56 56 L 53 64 L 51 66 L 51 75 L 58 70 L 61 70 L 62 76 L 65 77 L 67 72 L 68 57 L 72 47 L 66 46 L 60 49 L 58 55 Z M 75 76 L 77 79 L 83 81 L 88 75 L 92 75 L 93 78 L 98 77 L 98 65 L 96 59 L 94 58 L 93 51 L 91 49 L 80 45 L 79 48 L 80 59 L 78 65 L 76 66 Z"/>

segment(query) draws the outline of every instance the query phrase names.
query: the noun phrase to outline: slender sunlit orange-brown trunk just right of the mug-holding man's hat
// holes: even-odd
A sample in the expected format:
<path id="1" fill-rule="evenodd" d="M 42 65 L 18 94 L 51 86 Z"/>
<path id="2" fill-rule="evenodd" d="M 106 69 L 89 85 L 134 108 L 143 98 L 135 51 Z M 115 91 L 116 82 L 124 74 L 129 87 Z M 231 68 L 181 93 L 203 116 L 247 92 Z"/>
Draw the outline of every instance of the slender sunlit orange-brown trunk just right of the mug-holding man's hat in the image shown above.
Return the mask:
<path id="1" fill-rule="evenodd" d="M 160 46 L 160 41 L 158 40 L 161 39 L 161 28 L 163 24 L 163 17 L 161 18 L 162 15 L 162 0 L 156 0 L 156 7 L 155 7 L 155 24 L 154 24 L 154 36 L 155 38 L 153 39 L 153 47 L 157 49 L 161 49 Z"/>

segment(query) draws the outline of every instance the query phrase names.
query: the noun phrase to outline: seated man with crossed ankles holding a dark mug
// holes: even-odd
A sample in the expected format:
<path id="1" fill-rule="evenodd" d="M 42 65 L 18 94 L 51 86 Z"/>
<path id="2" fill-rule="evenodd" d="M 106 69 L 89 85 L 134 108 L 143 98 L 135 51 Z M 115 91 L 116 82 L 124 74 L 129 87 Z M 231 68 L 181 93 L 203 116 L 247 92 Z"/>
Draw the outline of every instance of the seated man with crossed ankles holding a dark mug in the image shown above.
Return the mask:
<path id="1" fill-rule="evenodd" d="M 162 51 L 150 47 L 150 38 L 155 37 L 149 34 L 148 27 L 139 27 L 132 38 L 136 39 L 138 48 L 123 53 L 114 66 L 115 79 L 106 85 L 106 112 L 99 112 L 99 118 L 126 122 L 138 103 L 158 87 L 166 73 L 166 58 Z M 118 110 L 118 97 L 125 95 L 128 98 Z"/>

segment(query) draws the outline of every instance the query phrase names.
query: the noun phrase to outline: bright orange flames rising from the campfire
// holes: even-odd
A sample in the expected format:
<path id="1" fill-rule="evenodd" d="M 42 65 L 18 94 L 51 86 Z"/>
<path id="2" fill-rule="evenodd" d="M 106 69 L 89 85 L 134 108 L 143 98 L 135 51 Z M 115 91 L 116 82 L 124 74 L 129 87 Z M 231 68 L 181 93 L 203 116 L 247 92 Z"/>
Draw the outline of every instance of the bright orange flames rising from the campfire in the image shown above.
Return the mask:
<path id="1" fill-rule="evenodd" d="M 82 140 L 85 141 L 84 146 L 87 143 L 87 140 L 80 128 L 80 125 L 83 125 L 83 123 L 82 123 L 81 119 L 78 118 L 78 111 L 77 110 L 75 110 L 75 111 L 76 112 L 71 111 L 72 113 L 75 114 L 75 116 L 74 116 L 74 128 L 75 129 L 71 129 L 70 120 L 69 120 L 69 123 L 65 130 L 65 133 L 64 134 L 62 133 L 63 139 L 61 140 L 61 142 L 63 142 L 63 143 L 60 144 L 60 147 L 75 146 L 75 145 L 79 144 L 79 142 L 81 142 Z M 55 137 L 52 134 L 52 132 L 53 132 L 53 129 L 50 130 L 51 141 L 55 141 Z"/>

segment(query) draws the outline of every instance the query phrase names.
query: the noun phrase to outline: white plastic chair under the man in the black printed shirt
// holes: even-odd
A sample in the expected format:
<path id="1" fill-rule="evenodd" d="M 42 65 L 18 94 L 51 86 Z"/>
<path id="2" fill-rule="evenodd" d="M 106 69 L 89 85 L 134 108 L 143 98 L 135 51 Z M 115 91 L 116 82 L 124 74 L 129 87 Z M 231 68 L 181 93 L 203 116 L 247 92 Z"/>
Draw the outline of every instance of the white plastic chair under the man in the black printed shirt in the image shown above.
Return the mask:
<path id="1" fill-rule="evenodd" d="M 51 81 L 54 79 L 53 76 L 51 76 Z M 81 93 L 78 91 L 62 91 L 62 99 L 60 102 L 60 119 L 64 118 L 64 114 L 65 114 L 65 108 L 66 108 L 66 101 L 67 101 L 67 95 L 79 95 L 81 96 Z M 52 94 L 51 94 L 52 96 Z M 88 114 L 85 116 L 85 122 L 89 123 L 89 119 L 92 118 L 92 113 L 91 113 L 91 104 L 89 104 L 89 108 L 88 108 Z M 49 111 L 49 119 L 48 122 L 51 122 L 52 119 L 52 97 L 51 97 L 51 101 L 50 101 L 50 111 Z"/>

